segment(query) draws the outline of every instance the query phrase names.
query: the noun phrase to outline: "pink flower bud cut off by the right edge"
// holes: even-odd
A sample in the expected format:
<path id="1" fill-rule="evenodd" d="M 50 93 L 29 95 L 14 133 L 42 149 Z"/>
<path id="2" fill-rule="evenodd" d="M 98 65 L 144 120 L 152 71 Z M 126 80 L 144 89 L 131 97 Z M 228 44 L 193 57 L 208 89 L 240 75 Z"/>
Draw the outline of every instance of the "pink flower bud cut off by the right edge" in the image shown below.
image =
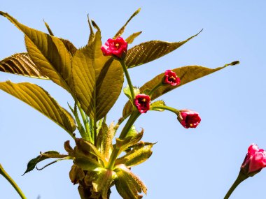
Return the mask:
<path id="1" fill-rule="evenodd" d="M 263 149 L 259 149 L 257 145 L 252 144 L 248 147 L 248 153 L 241 165 L 241 170 L 246 174 L 255 175 L 260 172 L 262 168 L 266 167 L 266 152 Z M 254 173 L 255 172 L 255 173 Z M 252 174 L 253 173 L 253 174 Z"/>

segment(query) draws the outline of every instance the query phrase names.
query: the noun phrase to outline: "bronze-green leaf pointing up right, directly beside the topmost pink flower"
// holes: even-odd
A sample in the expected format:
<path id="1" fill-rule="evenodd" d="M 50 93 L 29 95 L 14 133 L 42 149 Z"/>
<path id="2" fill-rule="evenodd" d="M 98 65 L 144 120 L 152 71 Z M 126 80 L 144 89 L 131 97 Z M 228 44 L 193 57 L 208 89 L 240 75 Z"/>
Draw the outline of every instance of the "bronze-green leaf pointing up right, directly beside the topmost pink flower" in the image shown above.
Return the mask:
<path id="1" fill-rule="evenodd" d="M 198 34 L 200 34 L 200 32 Z M 198 34 L 195 34 L 195 36 Z M 176 50 L 195 36 L 191 36 L 190 38 L 179 42 L 171 43 L 162 40 L 151 40 L 139 45 L 135 45 L 127 51 L 125 64 L 127 68 L 133 68 L 141 64 L 146 64 Z"/>

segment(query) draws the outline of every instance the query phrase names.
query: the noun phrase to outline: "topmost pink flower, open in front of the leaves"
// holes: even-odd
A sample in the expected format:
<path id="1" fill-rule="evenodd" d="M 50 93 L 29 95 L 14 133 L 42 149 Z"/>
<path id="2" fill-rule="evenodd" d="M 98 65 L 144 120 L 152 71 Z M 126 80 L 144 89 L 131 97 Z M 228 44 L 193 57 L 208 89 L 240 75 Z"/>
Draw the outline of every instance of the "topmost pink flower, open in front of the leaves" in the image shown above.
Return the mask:
<path id="1" fill-rule="evenodd" d="M 120 36 L 116 39 L 109 38 L 101 50 L 104 56 L 113 55 L 121 59 L 127 53 L 127 42 Z"/>

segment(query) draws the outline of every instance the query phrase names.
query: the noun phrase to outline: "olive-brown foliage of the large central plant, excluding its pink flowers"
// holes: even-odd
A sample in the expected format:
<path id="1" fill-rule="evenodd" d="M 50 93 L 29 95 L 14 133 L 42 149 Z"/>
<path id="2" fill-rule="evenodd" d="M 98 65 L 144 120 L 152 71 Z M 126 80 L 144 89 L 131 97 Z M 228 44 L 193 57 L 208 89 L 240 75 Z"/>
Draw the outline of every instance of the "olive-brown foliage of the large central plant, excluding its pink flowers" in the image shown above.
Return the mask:
<path id="1" fill-rule="evenodd" d="M 122 36 L 128 22 L 139 13 L 139 10 L 113 37 L 112 49 L 119 47 L 116 39 Z M 110 187 L 113 185 L 123 198 L 142 198 L 141 193 L 147 192 L 145 184 L 131 170 L 133 166 L 143 163 L 151 156 L 154 145 L 154 143 L 142 141 L 144 130 L 137 132 L 133 126 L 139 115 L 147 111 L 141 111 L 141 106 L 137 109 L 134 104 L 137 96 L 142 94 L 142 96 L 151 97 L 153 101 L 151 108 L 146 98 L 139 100 L 139 103 L 144 105 L 148 103 L 146 108 L 149 110 L 169 110 L 179 116 L 179 110 L 169 108 L 165 101 L 154 100 L 183 84 L 239 63 L 235 61 L 214 69 L 203 66 L 174 68 L 171 73 L 175 73 L 180 78 L 179 85 L 165 84 L 163 81 L 165 73 L 161 73 L 138 89 L 133 87 L 128 69 L 165 56 L 200 33 L 180 42 L 151 40 L 135 45 L 127 52 L 121 51 L 123 54 L 119 56 L 115 56 L 117 54 L 104 56 L 101 50 L 101 31 L 90 19 L 88 20 L 90 38 L 84 47 L 78 49 L 69 40 L 54 36 L 47 23 L 45 26 L 49 34 L 21 24 L 8 13 L 0 11 L 0 15 L 10 20 L 25 34 L 27 47 L 27 52 L 13 54 L 0 61 L 0 71 L 51 80 L 73 97 L 72 105 L 69 105 L 71 112 L 69 112 L 62 108 L 48 94 L 48 91 L 36 84 L 0 82 L 1 90 L 24 101 L 55 121 L 71 135 L 76 143 L 74 147 L 69 145 L 69 141 L 64 143 L 67 154 L 53 151 L 41 153 L 29 161 L 25 173 L 33 170 L 45 159 L 57 159 L 52 163 L 65 159 L 73 160 L 69 177 L 73 184 L 79 184 L 80 198 L 109 198 Z M 134 38 L 140 34 L 141 32 L 136 32 L 125 41 L 133 43 Z M 118 124 L 108 125 L 106 115 L 120 96 L 124 74 L 128 86 L 123 91 L 130 100 L 125 104 L 123 117 L 118 120 Z M 113 143 L 120 124 L 127 117 L 130 118 Z"/>

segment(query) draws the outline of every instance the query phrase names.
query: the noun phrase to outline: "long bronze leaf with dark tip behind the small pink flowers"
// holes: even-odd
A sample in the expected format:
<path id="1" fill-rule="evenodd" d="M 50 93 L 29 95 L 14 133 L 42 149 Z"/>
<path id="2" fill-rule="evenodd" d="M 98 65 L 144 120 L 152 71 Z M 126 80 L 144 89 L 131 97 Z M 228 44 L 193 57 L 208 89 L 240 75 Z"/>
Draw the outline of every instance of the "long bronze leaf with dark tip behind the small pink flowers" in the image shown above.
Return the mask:
<path id="1" fill-rule="evenodd" d="M 172 71 L 174 71 L 176 75 L 180 78 L 181 83 L 178 86 L 174 86 L 174 87 L 169 84 L 165 84 L 164 86 L 156 89 L 153 92 L 153 95 L 151 96 L 151 101 L 153 101 L 155 98 L 162 96 L 163 94 L 166 94 L 169 91 L 172 91 L 173 89 L 176 89 L 177 87 L 181 87 L 183 84 L 192 82 L 194 80 L 197 80 L 198 78 L 202 78 L 206 75 L 219 71 L 227 66 L 234 66 L 236 64 L 239 64 L 239 61 L 234 61 L 230 64 L 225 64 L 225 66 L 218 67 L 218 68 L 206 68 L 203 66 L 183 66 L 181 68 L 172 69 Z M 153 87 L 155 87 L 157 84 L 159 84 L 162 81 L 162 78 L 164 77 L 164 75 L 165 73 L 161 73 L 160 75 L 157 75 L 155 78 L 153 78 L 149 82 L 146 82 L 146 84 L 144 84 L 140 88 L 140 91 L 143 92 L 146 89 L 153 89 Z M 134 108 L 132 104 L 130 103 L 130 101 L 127 101 L 124 107 L 124 110 L 123 110 L 123 117 L 124 118 L 128 117 L 133 110 Z"/>

